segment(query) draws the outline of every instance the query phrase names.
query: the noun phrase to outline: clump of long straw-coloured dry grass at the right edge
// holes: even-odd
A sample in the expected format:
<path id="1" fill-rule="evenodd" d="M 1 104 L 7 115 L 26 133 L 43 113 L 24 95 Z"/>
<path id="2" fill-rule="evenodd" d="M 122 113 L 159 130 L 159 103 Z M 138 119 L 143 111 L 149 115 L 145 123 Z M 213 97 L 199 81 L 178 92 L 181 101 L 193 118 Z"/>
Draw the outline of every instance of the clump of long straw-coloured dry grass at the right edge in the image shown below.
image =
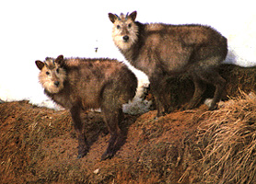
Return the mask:
<path id="1" fill-rule="evenodd" d="M 241 92 L 199 126 L 206 183 L 256 182 L 256 96 Z"/>

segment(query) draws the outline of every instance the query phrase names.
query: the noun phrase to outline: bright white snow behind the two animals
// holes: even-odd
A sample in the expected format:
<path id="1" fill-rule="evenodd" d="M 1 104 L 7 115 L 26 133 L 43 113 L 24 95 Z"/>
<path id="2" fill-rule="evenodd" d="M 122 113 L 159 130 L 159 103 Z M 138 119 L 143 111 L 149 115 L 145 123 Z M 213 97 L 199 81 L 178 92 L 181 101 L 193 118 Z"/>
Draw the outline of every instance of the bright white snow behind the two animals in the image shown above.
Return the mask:
<path id="1" fill-rule="evenodd" d="M 146 4 L 146 6 L 145 6 Z M 111 40 L 108 13 L 137 10 L 141 22 L 210 25 L 228 40 L 226 63 L 256 64 L 256 12 L 253 1 L 83 1 L 10 0 L 0 2 L 0 98 L 28 99 L 56 108 L 38 83 L 36 60 L 46 56 L 109 57 L 124 61 Z M 98 48 L 98 52 L 96 51 Z M 141 86 L 147 77 L 136 71 Z M 137 100 L 137 101 L 136 101 Z M 135 104 L 139 99 L 134 101 Z M 144 102 L 143 102 L 144 103 Z M 146 105 L 145 105 L 146 107 Z"/>

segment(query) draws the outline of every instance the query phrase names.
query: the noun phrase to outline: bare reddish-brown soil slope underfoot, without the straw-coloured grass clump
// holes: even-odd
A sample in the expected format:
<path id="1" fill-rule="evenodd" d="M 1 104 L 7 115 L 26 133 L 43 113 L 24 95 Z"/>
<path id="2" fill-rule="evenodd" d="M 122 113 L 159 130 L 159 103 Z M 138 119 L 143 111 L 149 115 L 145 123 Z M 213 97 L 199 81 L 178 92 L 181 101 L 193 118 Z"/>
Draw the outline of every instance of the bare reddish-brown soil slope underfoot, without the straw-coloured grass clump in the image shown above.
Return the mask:
<path id="1" fill-rule="evenodd" d="M 126 143 L 112 159 L 100 161 L 110 138 L 100 113 L 85 112 L 91 148 L 77 159 L 76 133 L 67 111 L 34 107 L 28 101 L 4 103 L 0 178 L 4 183 L 174 182 L 182 175 L 184 140 L 196 131 L 205 110 L 177 111 L 157 120 L 156 111 L 126 115 L 121 125 Z"/>

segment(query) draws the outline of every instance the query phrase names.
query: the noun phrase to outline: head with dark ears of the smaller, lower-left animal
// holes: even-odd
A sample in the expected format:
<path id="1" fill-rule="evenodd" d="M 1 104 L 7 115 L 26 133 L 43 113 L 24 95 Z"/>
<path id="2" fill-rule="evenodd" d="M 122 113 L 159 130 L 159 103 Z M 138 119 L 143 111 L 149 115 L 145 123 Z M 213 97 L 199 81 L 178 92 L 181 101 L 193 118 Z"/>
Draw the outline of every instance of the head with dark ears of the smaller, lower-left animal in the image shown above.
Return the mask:
<path id="1" fill-rule="evenodd" d="M 39 81 L 45 90 L 49 93 L 58 93 L 64 88 L 66 72 L 63 55 L 59 55 L 55 60 L 48 57 L 44 62 L 38 60 L 36 65 L 41 70 Z"/>

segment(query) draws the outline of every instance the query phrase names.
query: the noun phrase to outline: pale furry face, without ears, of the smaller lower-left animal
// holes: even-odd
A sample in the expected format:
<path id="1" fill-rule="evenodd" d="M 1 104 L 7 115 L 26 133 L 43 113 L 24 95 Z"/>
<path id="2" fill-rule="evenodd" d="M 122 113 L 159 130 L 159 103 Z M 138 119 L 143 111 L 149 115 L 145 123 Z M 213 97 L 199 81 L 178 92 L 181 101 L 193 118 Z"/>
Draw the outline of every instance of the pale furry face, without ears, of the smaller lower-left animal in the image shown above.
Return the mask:
<path id="1" fill-rule="evenodd" d="M 64 88 L 65 78 L 64 68 L 60 67 L 58 63 L 53 63 L 52 60 L 44 63 L 39 74 L 41 86 L 50 93 L 59 93 Z"/>

